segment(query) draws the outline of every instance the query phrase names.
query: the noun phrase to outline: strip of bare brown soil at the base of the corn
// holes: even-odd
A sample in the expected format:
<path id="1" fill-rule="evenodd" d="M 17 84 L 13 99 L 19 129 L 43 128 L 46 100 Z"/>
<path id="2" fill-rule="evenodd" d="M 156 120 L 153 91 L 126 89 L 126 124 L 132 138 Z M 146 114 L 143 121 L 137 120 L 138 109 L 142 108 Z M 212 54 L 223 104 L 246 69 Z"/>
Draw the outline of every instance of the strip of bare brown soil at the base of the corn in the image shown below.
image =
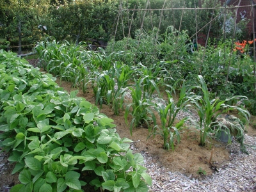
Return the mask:
<path id="1" fill-rule="evenodd" d="M 36 61 L 31 61 L 32 65 L 35 65 Z M 43 71 L 41 69 L 41 71 Z M 64 90 L 69 93 L 77 88 L 72 88 L 71 84 L 67 81 L 56 80 Z M 86 93 L 79 91 L 77 97 L 84 97 L 86 100 L 95 104 L 95 97 L 92 89 L 88 88 Z M 100 108 L 100 106 L 98 106 Z M 114 115 L 109 106 L 103 105 L 100 109 L 100 113 L 106 114 L 109 118 L 112 118 L 116 124 L 116 130 L 121 138 L 130 138 L 134 143 L 134 146 L 139 152 L 148 152 L 153 158 L 154 163 L 159 163 L 161 166 L 170 172 L 180 172 L 191 177 L 199 177 L 198 170 L 202 168 L 207 175 L 216 172 L 218 167 L 223 164 L 228 164 L 230 161 L 230 152 L 227 149 L 226 143 L 221 143 L 216 140 L 208 140 L 205 147 L 201 147 L 199 144 L 200 135 L 195 128 L 187 125 L 186 129 L 183 129 L 181 134 L 181 141 L 176 146 L 175 151 L 163 149 L 163 138 L 156 136 L 155 138 L 148 138 L 148 129 L 138 127 L 132 130 L 132 135 L 129 131 L 129 125 L 125 124 L 124 112 L 120 115 Z M 131 119 L 129 119 L 131 120 Z M 252 116 L 252 120 L 255 122 L 255 116 Z M 249 126 L 246 129 L 246 134 L 256 136 L 256 129 Z M 214 166 L 212 167 L 208 162 L 211 157 L 212 148 L 214 153 L 212 161 Z M 12 175 L 14 164 L 8 162 L 8 153 L 0 154 L 0 191 L 9 191 L 10 188 L 19 183 L 18 175 Z"/>

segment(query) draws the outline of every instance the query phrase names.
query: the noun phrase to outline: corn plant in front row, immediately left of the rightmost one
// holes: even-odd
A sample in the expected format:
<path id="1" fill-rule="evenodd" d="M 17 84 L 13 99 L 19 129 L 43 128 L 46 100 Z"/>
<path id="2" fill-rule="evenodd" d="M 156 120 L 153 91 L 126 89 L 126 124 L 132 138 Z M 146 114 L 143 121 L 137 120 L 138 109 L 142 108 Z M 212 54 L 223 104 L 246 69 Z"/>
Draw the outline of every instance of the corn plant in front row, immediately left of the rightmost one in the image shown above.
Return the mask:
<path id="1" fill-rule="evenodd" d="M 154 109 L 157 111 L 159 118 L 161 120 L 161 127 L 159 125 L 154 126 L 153 129 L 150 128 L 149 136 L 155 136 L 156 134 L 160 134 L 163 136 L 164 140 L 164 148 L 172 150 L 175 149 L 175 140 L 177 143 L 180 142 L 180 131 L 182 126 L 188 120 L 188 116 L 182 118 L 177 124 L 174 124 L 174 120 L 177 117 L 179 111 L 185 110 L 190 106 L 189 101 L 193 99 L 193 93 L 189 93 L 190 88 L 186 88 L 185 84 L 183 84 L 182 89 L 180 91 L 179 100 L 174 102 L 172 97 L 172 91 L 166 90 L 168 95 L 168 103 L 157 102 L 154 104 Z M 163 100 L 162 100 L 163 101 Z M 154 114 L 152 114 L 154 116 Z"/>

